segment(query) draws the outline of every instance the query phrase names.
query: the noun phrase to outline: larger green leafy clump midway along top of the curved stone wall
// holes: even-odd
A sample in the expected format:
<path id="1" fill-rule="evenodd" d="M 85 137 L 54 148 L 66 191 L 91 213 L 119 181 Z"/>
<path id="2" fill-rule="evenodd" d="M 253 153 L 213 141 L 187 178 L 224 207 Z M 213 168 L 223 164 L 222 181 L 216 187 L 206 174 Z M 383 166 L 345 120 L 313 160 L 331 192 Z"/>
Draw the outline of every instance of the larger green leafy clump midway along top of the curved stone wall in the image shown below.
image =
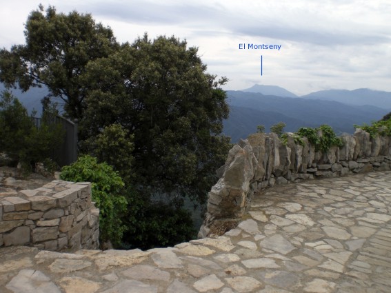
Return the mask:
<path id="1" fill-rule="evenodd" d="M 321 136 L 318 135 L 319 133 Z M 319 128 L 300 128 L 297 134 L 300 137 L 307 137 L 316 151 L 327 152 L 333 145 L 343 146 L 342 139 L 337 137 L 329 125 L 321 125 Z"/>

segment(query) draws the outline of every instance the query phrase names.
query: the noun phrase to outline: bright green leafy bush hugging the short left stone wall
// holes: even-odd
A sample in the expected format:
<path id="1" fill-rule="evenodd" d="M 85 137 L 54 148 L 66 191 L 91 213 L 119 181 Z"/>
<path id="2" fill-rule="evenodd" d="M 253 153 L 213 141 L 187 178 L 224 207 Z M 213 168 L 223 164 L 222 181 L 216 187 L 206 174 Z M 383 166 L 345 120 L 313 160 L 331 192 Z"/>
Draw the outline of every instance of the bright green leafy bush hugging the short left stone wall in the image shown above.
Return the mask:
<path id="1" fill-rule="evenodd" d="M 113 245 L 121 243 L 126 226 L 121 217 L 128 202 L 121 195 L 124 183 L 117 172 L 107 163 L 97 163 L 92 156 L 80 156 L 75 163 L 64 166 L 61 179 L 92 183 L 92 200 L 99 208 L 99 238 L 101 243 L 110 240 Z"/>

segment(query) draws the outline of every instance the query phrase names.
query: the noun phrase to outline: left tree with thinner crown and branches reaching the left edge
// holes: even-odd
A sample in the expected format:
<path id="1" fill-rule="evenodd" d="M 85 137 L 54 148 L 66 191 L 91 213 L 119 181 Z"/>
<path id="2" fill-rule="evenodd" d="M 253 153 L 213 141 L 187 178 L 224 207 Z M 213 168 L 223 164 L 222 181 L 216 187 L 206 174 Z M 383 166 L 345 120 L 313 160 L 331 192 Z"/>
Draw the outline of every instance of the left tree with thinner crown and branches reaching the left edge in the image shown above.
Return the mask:
<path id="1" fill-rule="evenodd" d="M 45 85 L 46 101 L 63 101 L 71 118 L 80 119 L 86 109 L 88 86 L 80 78 L 89 61 L 108 57 L 119 44 L 112 30 L 95 23 L 90 14 L 57 13 L 43 6 L 30 13 L 25 26 L 26 44 L 0 50 L 0 81 L 26 91 Z"/>

